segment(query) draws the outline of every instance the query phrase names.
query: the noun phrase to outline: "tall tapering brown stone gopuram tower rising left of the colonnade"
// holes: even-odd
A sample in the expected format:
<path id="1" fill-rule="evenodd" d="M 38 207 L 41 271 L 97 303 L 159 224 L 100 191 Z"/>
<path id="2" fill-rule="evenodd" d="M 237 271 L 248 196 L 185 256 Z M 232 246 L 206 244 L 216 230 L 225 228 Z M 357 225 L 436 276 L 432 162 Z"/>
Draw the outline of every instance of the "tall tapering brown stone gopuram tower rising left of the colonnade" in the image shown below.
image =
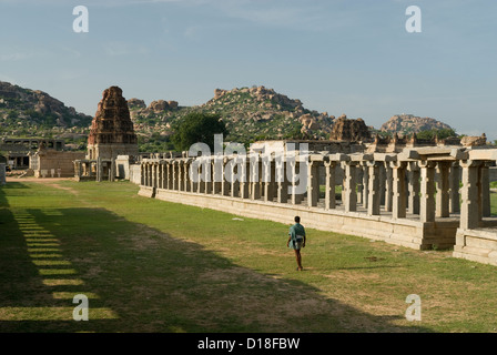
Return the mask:
<path id="1" fill-rule="evenodd" d="M 91 122 L 87 159 L 113 160 L 118 155 L 138 155 L 138 139 L 122 90 L 110 87 Z"/>

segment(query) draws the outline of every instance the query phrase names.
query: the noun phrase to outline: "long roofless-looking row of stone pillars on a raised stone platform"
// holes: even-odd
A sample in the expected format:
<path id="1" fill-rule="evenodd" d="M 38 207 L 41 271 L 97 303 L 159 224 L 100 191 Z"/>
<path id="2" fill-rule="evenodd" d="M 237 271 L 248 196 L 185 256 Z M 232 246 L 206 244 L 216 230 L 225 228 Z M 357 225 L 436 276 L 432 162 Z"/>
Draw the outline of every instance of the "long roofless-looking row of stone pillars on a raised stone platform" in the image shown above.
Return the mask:
<path id="1" fill-rule="evenodd" d="M 454 247 L 456 257 L 497 265 L 489 199 L 496 149 L 459 144 L 301 155 L 297 148 L 143 159 L 139 193 L 282 223 L 298 214 L 310 227 L 416 250 Z"/>

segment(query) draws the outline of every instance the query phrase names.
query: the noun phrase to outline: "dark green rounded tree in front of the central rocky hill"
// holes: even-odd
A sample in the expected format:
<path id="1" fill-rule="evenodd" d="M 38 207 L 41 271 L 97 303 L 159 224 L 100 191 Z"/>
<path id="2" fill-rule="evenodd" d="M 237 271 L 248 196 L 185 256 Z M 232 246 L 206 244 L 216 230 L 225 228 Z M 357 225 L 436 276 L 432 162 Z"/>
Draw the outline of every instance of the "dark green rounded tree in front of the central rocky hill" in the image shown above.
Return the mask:
<path id="1" fill-rule="evenodd" d="M 178 150 L 186 151 L 194 143 L 205 143 L 214 150 L 214 134 L 227 135 L 226 125 L 220 114 L 192 112 L 174 126 L 171 141 Z"/>

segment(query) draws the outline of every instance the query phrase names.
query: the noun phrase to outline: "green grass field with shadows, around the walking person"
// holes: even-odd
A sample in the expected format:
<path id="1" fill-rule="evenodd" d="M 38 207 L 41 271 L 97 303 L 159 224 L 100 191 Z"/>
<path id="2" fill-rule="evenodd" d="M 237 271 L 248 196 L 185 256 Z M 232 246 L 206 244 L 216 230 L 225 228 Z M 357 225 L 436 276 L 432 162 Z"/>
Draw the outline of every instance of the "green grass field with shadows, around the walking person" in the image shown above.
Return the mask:
<path id="1" fill-rule="evenodd" d="M 292 221 L 136 192 L 125 182 L 0 187 L 0 332 L 497 329 L 495 266 L 308 230 L 296 272 Z M 88 322 L 73 320 L 77 294 L 89 297 Z M 409 294 L 420 322 L 406 321 Z"/>

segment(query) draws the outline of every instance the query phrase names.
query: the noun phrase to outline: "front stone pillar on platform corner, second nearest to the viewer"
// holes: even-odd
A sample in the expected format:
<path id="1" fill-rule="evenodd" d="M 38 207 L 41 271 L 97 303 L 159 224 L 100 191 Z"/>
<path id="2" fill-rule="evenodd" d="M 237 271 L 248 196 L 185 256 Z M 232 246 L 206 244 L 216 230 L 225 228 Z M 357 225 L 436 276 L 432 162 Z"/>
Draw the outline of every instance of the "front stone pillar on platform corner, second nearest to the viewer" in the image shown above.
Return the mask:
<path id="1" fill-rule="evenodd" d="M 435 162 L 420 161 L 420 222 L 435 222 Z"/>

